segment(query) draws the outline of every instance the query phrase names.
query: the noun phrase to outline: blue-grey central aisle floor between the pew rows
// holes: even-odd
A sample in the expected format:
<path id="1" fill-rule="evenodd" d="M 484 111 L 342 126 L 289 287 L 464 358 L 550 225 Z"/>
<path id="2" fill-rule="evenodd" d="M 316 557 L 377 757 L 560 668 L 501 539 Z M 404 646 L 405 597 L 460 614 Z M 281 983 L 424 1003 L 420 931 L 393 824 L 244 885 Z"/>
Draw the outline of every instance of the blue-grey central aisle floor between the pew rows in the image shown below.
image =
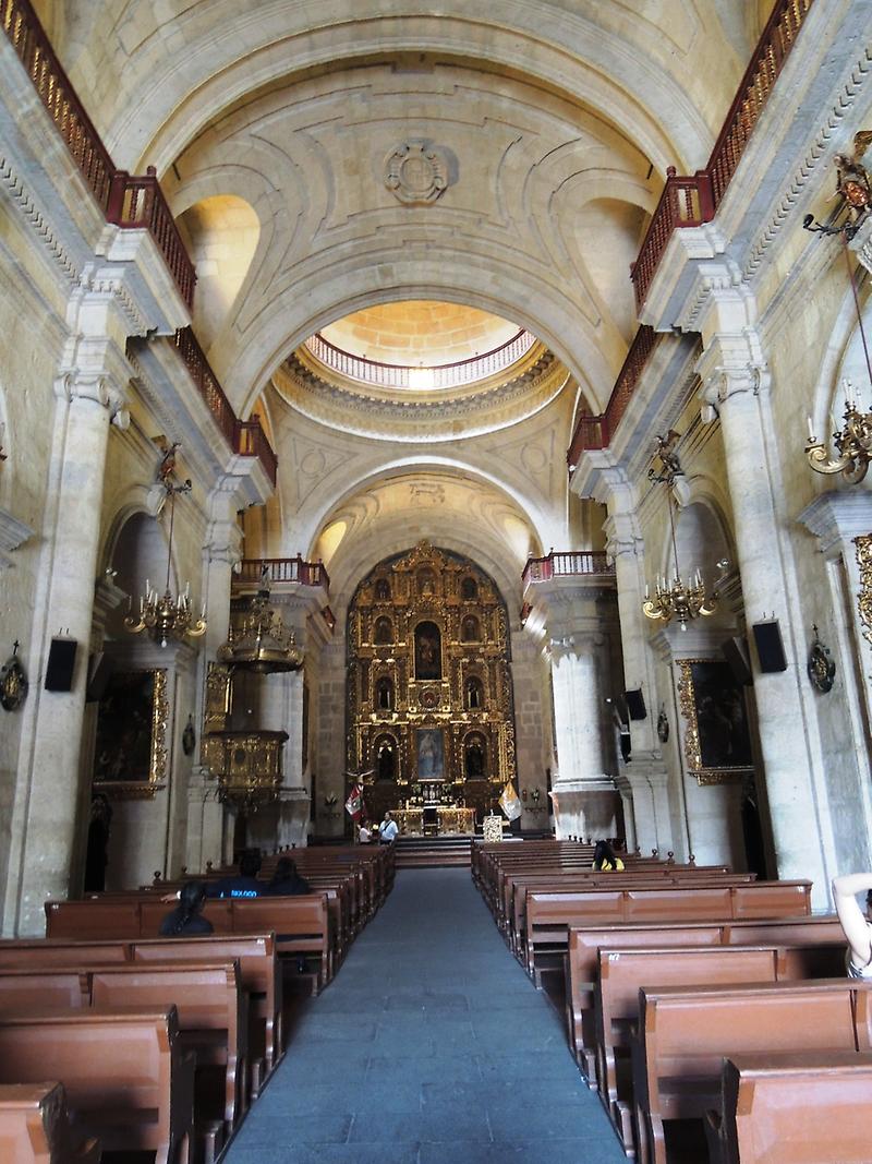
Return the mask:
<path id="1" fill-rule="evenodd" d="M 227 1164 L 622 1164 L 470 871 L 403 870 Z"/>

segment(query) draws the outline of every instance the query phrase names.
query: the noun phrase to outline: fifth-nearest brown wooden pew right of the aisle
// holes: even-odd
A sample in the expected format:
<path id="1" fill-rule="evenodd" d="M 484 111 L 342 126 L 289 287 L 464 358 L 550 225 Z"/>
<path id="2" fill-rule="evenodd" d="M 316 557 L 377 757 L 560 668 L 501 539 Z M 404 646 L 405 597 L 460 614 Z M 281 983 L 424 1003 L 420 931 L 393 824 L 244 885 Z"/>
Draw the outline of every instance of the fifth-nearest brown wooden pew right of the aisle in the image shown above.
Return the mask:
<path id="1" fill-rule="evenodd" d="M 564 953 L 569 928 L 592 922 L 726 921 L 812 913 L 810 881 L 682 885 L 657 888 L 528 893 L 524 956 L 535 977 L 536 952 Z"/>

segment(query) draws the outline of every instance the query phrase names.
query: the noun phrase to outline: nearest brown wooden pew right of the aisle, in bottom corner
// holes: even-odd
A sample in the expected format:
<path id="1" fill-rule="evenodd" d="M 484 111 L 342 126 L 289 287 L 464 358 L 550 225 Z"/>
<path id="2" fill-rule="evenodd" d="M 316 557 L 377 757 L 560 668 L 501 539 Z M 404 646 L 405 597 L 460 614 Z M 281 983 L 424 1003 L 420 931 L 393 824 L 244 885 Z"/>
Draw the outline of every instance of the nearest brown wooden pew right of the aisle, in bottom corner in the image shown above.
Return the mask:
<path id="1" fill-rule="evenodd" d="M 724 1059 L 721 1113 L 707 1113 L 710 1164 L 867 1164 L 872 1053 Z"/>

